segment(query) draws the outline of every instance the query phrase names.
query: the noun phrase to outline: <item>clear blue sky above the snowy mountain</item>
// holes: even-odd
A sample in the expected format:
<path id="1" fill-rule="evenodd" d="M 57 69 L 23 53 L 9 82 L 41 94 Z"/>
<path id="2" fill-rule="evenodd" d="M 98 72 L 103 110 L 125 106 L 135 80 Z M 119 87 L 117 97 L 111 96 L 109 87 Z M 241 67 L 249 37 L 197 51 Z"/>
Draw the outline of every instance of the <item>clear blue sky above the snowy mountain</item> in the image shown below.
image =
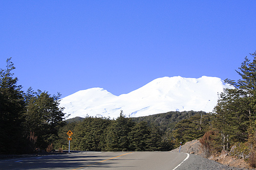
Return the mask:
<path id="1" fill-rule="evenodd" d="M 26 91 L 120 95 L 160 77 L 238 80 L 256 1 L 0 1 L 0 68 Z M 249 57 L 250 58 L 250 57 Z"/>

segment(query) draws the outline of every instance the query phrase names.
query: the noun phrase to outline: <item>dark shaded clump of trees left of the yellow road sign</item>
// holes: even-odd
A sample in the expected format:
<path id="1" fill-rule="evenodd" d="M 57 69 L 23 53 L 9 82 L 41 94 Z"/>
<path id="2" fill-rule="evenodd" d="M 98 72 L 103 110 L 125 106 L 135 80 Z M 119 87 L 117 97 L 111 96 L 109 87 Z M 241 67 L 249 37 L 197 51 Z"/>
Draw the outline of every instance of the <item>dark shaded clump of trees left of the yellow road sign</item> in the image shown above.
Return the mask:
<path id="1" fill-rule="evenodd" d="M 46 149 L 58 138 L 58 130 L 65 125 L 63 108 L 59 107 L 60 94 L 47 91 L 27 92 L 13 77 L 14 64 L 7 59 L 0 69 L 0 154 L 32 153 Z"/>

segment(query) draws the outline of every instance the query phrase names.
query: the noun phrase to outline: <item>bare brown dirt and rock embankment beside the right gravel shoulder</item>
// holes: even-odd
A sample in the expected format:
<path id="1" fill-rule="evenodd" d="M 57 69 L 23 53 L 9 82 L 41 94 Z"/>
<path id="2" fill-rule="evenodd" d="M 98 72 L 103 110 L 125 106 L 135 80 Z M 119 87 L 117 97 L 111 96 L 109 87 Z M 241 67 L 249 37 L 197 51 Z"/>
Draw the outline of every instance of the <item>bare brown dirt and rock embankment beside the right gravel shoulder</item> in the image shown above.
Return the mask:
<path id="1" fill-rule="evenodd" d="M 201 148 L 200 148 L 200 142 L 199 140 L 192 140 L 189 142 L 186 142 L 181 146 L 180 152 L 188 153 L 188 154 L 195 154 L 199 155 L 203 158 L 205 158 Z M 180 148 L 172 150 L 172 152 L 179 152 Z M 211 155 L 209 157 L 210 160 L 214 160 L 216 162 L 219 162 L 221 164 L 231 166 L 231 167 L 240 167 L 240 168 L 247 168 L 249 169 L 248 163 L 244 161 L 244 159 L 237 159 L 235 157 L 229 156 L 228 152 L 222 151 L 220 155 Z"/>

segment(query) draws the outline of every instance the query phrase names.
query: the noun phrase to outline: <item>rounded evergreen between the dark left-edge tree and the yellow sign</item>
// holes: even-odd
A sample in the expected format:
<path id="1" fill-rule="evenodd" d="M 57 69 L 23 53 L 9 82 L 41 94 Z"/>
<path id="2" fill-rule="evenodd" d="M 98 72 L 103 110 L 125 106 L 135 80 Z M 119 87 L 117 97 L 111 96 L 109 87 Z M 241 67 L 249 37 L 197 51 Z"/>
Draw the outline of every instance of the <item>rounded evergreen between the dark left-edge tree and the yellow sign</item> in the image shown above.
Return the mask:
<path id="1" fill-rule="evenodd" d="M 59 108 L 60 94 L 51 96 L 48 92 L 33 92 L 30 88 L 26 101 L 26 133 L 34 132 L 38 137 L 37 147 L 45 149 L 57 139 L 58 129 L 63 126 L 65 113 Z"/>

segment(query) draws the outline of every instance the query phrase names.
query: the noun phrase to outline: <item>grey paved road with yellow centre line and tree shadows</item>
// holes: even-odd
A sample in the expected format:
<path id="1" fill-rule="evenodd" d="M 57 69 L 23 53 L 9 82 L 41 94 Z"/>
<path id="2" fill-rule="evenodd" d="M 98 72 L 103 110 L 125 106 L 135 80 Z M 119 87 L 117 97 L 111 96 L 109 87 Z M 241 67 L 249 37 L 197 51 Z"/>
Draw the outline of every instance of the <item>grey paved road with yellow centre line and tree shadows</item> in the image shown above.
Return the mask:
<path id="1" fill-rule="evenodd" d="M 174 152 L 83 152 L 0 160 L 0 169 L 174 169 L 186 157 Z"/>

